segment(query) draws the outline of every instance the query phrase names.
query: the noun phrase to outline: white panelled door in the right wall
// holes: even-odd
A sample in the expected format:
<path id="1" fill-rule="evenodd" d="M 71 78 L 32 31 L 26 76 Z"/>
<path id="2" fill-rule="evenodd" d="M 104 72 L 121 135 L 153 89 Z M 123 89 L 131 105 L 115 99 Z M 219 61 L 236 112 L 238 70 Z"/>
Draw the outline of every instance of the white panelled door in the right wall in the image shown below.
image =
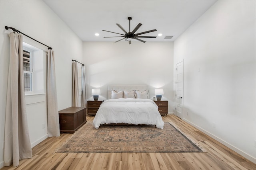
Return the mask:
<path id="1" fill-rule="evenodd" d="M 183 115 L 183 61 L 176 64 L 176 116 Z"/>

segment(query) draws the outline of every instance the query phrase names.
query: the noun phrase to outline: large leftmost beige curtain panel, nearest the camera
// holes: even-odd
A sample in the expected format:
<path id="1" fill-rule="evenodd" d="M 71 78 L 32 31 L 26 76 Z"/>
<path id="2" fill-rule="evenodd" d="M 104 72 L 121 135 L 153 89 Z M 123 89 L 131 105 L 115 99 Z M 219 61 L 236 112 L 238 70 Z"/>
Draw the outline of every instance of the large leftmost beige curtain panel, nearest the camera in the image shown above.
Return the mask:
<path id="1" fill-rule="evenodd" d="M 32 158 L 24 93 L 22 35 L 10 33 L 10 64 L 4 131 L 4 166 Z"/>

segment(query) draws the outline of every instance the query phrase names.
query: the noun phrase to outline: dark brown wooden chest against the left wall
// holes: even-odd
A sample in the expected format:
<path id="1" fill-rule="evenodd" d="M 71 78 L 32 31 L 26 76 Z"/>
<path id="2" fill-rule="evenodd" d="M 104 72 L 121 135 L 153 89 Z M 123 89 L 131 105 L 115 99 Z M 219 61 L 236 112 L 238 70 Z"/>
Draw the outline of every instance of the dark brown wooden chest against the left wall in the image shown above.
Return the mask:
<path id="1" fill-rule="evenodd" d="M 60 133 L 74 133 L 86 123 L 87 107 L 68 107 L 59 111 Z"/>

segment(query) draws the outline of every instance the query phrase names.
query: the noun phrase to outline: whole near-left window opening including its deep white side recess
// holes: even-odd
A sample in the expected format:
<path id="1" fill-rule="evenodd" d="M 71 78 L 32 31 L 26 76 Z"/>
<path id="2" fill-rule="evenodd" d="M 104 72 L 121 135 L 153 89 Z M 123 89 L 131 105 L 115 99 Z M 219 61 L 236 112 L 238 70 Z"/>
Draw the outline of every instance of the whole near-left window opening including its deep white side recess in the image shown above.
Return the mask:
<path id="1" fill-rule="evenodd" d="M 24 91 L 26 95 L 44 93 L 45 91 L 45 53 L 43 50 L 23 42 Z"/>

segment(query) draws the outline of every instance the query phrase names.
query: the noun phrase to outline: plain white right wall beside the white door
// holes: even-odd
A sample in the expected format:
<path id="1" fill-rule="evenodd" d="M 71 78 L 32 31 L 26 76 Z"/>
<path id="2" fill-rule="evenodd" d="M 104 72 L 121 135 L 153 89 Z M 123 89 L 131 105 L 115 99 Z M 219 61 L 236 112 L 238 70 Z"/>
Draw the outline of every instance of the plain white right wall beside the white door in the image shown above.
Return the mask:
<path id="1" fill-rule="evenodd" d="M 183 119 L 254 163 L 255 16 L 254 0 L 219 0 L 174 42 L 174 64 L 184 59 Z"/>

